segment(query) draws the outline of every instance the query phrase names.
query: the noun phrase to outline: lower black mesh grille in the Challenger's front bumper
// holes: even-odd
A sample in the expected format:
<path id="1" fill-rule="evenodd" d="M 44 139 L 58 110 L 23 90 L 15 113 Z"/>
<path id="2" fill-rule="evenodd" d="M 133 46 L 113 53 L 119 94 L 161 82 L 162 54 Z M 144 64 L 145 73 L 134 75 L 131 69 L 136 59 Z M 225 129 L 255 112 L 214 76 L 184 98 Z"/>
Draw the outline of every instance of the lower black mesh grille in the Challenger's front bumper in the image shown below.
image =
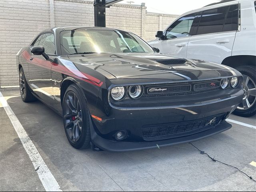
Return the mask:
<path id="1" fill-rule="evenodd" d="M 195 134 L 218 125 L 226 114 L 218 114 L 186 122 L 142 126 L 144 140 L 161 140 Z"/>

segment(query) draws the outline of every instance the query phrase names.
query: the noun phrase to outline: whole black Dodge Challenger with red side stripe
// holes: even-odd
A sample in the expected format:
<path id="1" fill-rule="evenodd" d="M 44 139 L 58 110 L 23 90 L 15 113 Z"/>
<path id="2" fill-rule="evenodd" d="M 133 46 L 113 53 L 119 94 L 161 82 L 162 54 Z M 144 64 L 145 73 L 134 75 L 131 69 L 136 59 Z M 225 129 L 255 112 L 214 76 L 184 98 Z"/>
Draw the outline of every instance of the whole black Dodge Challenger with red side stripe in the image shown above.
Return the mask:
<path id="1" fill-rule="evenodd" d="M 233 68 L 159 54 L 131 32 L 61 27 L 17 56 L 24 102 L 64 119 L 75 148 L 130 151 L 195 141 L 231 128 L 243 98 Z"/>

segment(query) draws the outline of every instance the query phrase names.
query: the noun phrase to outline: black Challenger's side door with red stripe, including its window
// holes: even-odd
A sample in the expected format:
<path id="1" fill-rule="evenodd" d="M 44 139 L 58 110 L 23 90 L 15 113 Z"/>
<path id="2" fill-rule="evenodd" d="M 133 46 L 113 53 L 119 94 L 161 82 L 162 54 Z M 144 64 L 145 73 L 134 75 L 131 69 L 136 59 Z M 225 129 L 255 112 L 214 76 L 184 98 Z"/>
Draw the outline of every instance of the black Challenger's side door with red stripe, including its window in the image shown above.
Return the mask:
<path id="1" fill-rule="evenodd" d="M 45 53 L 52 59 L 55 58 L 55 40 L 53 33 L 44 33 L 40 37 L 40 42 L 33 46 L 44 46 Z M 34 93 L 49 105 L 54 104 L 54 95 L 51 76 L 52 62 L 46 60 L 42 55 L 32 55 L 28 70 L 30 74 L 30 87 Z"/>

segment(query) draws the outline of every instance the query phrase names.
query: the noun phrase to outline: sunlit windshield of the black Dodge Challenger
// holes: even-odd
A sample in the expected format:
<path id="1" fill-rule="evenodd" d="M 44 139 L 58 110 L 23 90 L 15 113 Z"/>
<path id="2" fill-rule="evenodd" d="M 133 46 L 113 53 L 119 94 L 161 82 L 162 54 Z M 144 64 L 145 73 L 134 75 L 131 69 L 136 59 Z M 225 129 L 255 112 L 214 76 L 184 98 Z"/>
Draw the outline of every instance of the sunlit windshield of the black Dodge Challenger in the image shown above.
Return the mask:
<path id="1" fill-rule="evenodd" d="M 82 53 L 154 53 L 142 39 L 132 33 L 108 29 L 70 30 L 60 33 L 62 55 Z"/>

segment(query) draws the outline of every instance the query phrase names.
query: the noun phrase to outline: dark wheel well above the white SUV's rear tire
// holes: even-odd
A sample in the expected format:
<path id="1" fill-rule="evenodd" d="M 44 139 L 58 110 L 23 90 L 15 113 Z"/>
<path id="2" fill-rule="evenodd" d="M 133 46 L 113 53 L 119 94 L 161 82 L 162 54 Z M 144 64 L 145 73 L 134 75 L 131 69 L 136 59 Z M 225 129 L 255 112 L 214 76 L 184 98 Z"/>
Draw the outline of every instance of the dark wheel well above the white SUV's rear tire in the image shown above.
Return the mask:
<path id="1" fill-rule="evenodd" d="M 225 58 L 222 63 L 223 65 L 237 68 L 240 66 L 254 66 L 256 68 L 256 56 L 253 55 L 236 55 Z"/>

